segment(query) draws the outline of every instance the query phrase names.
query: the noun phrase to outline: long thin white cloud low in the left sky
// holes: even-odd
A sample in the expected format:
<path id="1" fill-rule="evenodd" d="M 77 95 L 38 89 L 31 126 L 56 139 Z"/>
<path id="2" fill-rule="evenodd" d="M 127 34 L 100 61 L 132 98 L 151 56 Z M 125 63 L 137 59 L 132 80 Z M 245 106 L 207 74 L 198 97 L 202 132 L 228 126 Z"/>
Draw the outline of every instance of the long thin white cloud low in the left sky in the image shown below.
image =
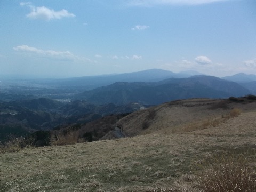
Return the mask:
<path id="1" fill-rule="evenodd" d="M 53 50 L 41 50 L 35 47 L 30 47 L 28 45 L 19 45 L 13 47 L 14 51 L 22 52 L 31 57 L 43 57 L 49 59 L 58 59 L 58 60 L 68 60 L 68 61 L 84 61 L 92 62 L 90 59 L 84 57 L 78 57 L 69 51 L 53 51 Z"/>

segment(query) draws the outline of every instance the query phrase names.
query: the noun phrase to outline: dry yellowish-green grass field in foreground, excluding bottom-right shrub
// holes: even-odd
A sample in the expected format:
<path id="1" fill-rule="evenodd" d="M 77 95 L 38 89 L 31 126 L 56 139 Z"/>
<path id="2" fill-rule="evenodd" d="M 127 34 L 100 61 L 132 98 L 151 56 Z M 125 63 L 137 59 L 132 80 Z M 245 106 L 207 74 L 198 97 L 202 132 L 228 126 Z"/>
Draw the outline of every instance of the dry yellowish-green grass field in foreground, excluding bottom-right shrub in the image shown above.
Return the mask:
<path id="1" fill-rule="evenodd" d="M 183 132 L 2 153 L 0 191 L 199 191 L 211 167 L 232 162 L 255 170 L 255 117 L 248 112 L 203 130 L 184 125 Z"/>

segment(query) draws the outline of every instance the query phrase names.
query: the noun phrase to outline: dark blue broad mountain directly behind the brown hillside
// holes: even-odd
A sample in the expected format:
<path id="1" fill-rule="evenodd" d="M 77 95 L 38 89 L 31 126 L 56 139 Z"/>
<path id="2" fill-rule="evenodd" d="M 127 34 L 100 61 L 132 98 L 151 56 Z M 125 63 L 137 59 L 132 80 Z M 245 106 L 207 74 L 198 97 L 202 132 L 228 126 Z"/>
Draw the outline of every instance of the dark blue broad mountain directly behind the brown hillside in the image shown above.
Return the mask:
<path id="1" fill-rule="evenodd" d="M 90 103 L 115 103 L 124 105 L 138 102 L 142 105 L 188 98 L 228 98 L 250 94 L 250 91 L 235 82 L 213 76 L 169 78 L 159 82 L 116 82 L 75 95 L 74 99 Z"/>

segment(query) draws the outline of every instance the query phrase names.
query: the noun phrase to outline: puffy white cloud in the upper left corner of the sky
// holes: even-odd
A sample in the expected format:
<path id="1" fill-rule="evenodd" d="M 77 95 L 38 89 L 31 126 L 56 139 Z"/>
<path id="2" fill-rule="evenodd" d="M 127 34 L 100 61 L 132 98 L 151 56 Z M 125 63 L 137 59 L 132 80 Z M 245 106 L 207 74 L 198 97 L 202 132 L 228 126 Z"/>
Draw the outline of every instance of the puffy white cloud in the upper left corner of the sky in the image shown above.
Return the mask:
<path id="1" fill-rule="evenodd" d="M 20 6 L 27 6 L 30 8 L 31 12 L 26 15 L 30 19 L 42 19 L 49 21 L 53 19 L 61 19 L 64 17 L 75 17 L 75 14 L 69 13 L 65 9 L 54 11 L 53 9 L 49 9 L 45 6 L 36 7 L 30 2 L 21 2 Z"/>

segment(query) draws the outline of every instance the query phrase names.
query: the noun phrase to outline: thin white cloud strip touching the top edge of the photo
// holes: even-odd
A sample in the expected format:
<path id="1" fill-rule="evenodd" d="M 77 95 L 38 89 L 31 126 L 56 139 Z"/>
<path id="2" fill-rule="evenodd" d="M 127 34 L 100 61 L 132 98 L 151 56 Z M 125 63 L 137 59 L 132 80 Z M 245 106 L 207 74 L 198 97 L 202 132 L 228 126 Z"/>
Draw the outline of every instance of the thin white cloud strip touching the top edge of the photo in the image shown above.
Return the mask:
<path id="1" fill-rule="evenodd" d="M 131 0 L 130 6 L 154 6 L 154 5 L 200 5 L 230 0 Z"/>

